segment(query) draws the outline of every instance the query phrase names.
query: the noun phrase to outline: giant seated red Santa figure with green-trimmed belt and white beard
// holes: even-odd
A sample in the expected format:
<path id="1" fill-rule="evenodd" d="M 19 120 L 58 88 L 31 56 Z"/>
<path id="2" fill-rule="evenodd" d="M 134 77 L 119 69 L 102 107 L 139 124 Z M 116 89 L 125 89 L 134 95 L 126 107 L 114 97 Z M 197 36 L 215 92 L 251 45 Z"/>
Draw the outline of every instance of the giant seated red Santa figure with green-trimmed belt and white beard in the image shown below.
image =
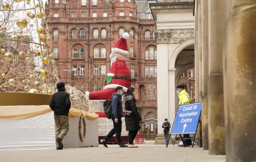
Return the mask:
<path id="1" fill-rule="evenodd" d="M 131 75 L 126 65 L 126 57 L 128 56 L 128 47 L 126 39 L 128 33 L 124 33 L 110 54 L 111 68 L 110 72 L 105 77 L 106 86 L 103 90 L 95 92 L 85 92 L 86 97 L 90 100 L 107 100 L 112 98 L 112 94 L 116 92 L 117 86 L 122 86 L 124 92 L 131 86 Z M 124 93 L 125 94 L 125 93 Z"/>

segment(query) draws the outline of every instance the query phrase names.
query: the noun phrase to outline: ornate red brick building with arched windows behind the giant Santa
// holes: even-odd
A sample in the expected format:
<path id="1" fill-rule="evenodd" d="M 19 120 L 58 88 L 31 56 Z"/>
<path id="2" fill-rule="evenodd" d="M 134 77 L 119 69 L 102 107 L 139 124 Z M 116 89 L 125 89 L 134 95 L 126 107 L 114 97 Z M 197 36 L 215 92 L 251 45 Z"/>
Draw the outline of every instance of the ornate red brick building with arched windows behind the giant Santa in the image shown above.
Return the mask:
<path id="1" fill-rule="evenodd" d="M 157 49 L 148 1 L 49 0 L 45 10 L 60 81 L 82 91 L 104 88 L 111 48 L 124 32 L 130 34 L 126 63 L 143 119 L 142 132 L 156 133 Z"/>

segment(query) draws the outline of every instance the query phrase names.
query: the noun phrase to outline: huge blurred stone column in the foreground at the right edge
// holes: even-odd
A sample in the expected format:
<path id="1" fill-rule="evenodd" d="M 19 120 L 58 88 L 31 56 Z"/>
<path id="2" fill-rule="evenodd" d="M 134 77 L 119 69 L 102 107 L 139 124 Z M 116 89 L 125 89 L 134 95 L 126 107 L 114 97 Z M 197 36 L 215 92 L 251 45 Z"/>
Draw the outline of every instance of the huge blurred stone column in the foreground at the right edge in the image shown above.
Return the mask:
<path id="1" fill-rule="evenodd" d="M 226 27 L 226 161 L 256 161 L 256 0 L 234 0 Z"/>

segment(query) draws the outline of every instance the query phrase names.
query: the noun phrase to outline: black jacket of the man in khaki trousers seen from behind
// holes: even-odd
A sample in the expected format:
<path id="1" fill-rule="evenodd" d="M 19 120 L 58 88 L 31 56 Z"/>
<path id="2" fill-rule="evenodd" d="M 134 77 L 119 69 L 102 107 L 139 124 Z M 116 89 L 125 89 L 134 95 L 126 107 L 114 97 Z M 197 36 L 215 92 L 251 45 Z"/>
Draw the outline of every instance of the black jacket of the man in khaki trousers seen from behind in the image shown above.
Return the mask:
<path id="1" fill-rule="evenodd" d="M 54 115 L 68 116 L 71 107 L 69 94 L 64 89 L 58 89 L 58 92 L 52 95 L 49 106 L 54 111 Z"/>

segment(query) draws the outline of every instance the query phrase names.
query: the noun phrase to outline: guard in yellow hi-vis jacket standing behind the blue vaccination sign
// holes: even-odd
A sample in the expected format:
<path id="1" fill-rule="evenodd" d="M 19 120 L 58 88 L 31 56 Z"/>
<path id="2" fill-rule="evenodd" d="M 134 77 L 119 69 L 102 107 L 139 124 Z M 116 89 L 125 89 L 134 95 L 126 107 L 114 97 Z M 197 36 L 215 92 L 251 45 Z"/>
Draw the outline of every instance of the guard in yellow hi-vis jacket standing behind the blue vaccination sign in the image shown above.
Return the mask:
<path id="1" fill-rule="evenodd" d="M 191 99 L 190 99 L 190 96 L 188 95 L 188 93 L 186 92 L 185 90 L 185 86 L 184 84 L 179 84 L 177 87 L 176 87 L 176 92 L 179 96 L 179 99 L 180 99 L 180 102 L 179 102 L 179 106 L 180 105 L 186 105 L 186 104 L 191 104 Z M 190 138 L 189 134 L 184 134 L 183 135 L 183 138 Z M 186 144 L 186 146 L 190 146 L 192 145 L 192 142 L 190 139 L 186 139 L 184 140 L 184 143 Z M 178 144 L 178 146 L 180 147 L 184 147 L 184 144 L 182 142 L 180 142 Z"/>

